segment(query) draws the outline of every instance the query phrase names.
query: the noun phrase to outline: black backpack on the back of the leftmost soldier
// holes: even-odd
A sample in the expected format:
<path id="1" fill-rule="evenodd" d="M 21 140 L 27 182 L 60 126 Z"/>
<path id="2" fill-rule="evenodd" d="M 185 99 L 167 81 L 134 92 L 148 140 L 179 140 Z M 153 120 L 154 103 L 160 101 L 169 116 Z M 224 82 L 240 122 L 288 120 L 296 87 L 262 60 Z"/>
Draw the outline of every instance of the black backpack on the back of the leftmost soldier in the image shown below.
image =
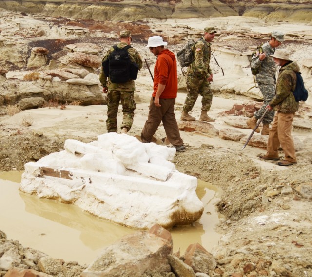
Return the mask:
<path id="1" fill-rule="evenodd" d="M 110 81 L 116 84 L 136 80 L 138 65 L 131 61 L 130 54 L 127 51 L 131 46 L 127 45 L 119 48 L 114 45 L 113 48 L 114 51 L 102 63 L 105 76 L 109 76 Z"/>

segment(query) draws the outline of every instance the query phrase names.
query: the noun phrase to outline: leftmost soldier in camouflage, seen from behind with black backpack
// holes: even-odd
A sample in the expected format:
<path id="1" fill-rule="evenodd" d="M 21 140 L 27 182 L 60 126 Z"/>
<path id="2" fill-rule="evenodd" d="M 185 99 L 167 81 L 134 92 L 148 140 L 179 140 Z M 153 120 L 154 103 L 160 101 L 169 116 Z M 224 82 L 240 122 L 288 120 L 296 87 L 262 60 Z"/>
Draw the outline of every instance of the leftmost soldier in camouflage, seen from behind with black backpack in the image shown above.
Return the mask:
<path id="1" fill-rule="evenodd" d="M 120 32 L 120 42 L 117 44 L 117 47 L 123 48 L 127 45 L 130 45 L 132 37 L 130 31 L 121 31 Z M 103 61 L 108 59 L 108 56 L 114 51 L 114 48 L 111 47 L 106 55 L 103 58 Z M 138 68 L 142 68 L 142 59 L 139 53 L 134 48 L 129 48 L 128 53 L 130 54 L 130 59 L 133 62 L 136 62 Z M 103 67 L 101 68 L 101 73 L 99 80 L 103 86 L 103 92 L 107 93 L 107 120 L 106 128 L 107 132 L 117 132 L 117 113 L 119 102 L 122 104 L 122 113 L 123 119 L 121 124 L 121 132 L 127 133 L 133 123 L 133 117 L 136 109 L 136 102 L 134 99 L 135 92 L 135 81 L 129 80 L 126 83 L 112 83 L 108 76 L 105 76 L 103 72 Z"/>

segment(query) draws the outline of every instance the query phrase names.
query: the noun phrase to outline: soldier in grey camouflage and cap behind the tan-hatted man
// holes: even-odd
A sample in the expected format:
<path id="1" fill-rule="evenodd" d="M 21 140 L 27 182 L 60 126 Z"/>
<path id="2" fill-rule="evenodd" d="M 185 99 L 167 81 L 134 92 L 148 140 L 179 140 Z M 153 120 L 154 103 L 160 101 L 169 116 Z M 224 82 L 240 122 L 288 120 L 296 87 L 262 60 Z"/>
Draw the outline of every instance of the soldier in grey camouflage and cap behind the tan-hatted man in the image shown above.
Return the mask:
<path id="1" fill-rule="evenodd" d="M 262 53 L 257 53 L 257 56 L 252 59 L 251 66 L 252 68 L 259 68 L 259 73 L 256 74 L 255 78 L 258 83 L 259 89 L 263 95 L 263 105 L 259 111 L 254 113 L 254 116 L 251 119 L 247 120 L 247 125 L 254 129 L 257 124 L 258 119 L 262 116 L 267 105 L 274 97 L 275 93 L 275 64 L 269 55 L 273 55 L 275 48 L 280 46 L 282 41 L 284 41 L 284 34 L 279 31 L 273 31 L 271 34 L 271 39 L 264 43 L 261 48 Z M 263 128 L 261 135 L 268 135 L 270 128 L 269 125 L 273 121 L 274 111 L 268 111 L 263 117 Z M 256 132 L 259 133 L 260 129 L 257 128 Z"/>

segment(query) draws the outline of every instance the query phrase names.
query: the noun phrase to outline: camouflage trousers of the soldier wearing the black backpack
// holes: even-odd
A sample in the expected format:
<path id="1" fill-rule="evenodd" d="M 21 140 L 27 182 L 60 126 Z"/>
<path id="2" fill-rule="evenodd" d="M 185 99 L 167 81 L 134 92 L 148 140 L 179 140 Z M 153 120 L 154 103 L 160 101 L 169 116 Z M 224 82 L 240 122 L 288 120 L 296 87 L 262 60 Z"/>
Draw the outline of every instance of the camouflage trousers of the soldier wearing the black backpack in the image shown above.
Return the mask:
<path id="1" fill-rule="evenodd" d="M 132 127 L 133 117 L 135 115 L 136 102 L 134 98 L 134 91 L 124 92 L 108 90 L 107 92 L 107 132 L 117 133 L 117 113 L 119 102 L 122 104 L 123 119 L 121 129 L 126 127 L 128 131 Z"/>

